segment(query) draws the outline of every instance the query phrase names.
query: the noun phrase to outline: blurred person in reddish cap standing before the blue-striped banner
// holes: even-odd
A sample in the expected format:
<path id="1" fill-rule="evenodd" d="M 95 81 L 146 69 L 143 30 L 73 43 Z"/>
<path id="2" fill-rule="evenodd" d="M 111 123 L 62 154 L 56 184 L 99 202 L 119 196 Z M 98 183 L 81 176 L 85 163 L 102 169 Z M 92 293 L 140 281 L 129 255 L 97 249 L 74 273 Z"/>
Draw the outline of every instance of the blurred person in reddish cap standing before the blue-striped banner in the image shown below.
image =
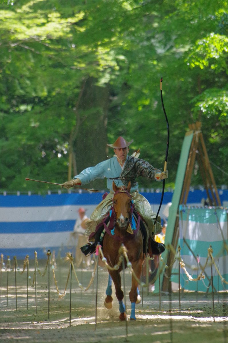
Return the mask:
<path id="1" fill-rule="evenodd" d="M 72 232 L 73 238 L 76 240 L 76 253 L 75 253 L 75 261 L 76 267 L 80 267 L 83 261 L 85 262 L 85 266 L 90 266 L 90 258 L 85 257 L 84 254 L 81 252 L 80 247 L 88 243 L 88 237 L 85 236 L 85 223 L 89 220 L 87 215 L 85 214 L 85 209 L 80 207 L 77 211 L 79 213 L 79 218 L 76 220 L 74 224 L 74 230 Z"/>

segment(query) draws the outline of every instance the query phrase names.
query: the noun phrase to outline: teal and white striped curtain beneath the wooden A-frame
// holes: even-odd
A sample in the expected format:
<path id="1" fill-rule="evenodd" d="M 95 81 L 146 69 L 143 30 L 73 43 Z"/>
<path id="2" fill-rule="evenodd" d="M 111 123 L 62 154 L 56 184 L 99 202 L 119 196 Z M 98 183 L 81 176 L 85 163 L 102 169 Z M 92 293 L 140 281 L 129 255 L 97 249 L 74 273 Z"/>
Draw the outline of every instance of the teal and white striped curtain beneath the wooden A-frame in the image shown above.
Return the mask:
<path id="1" fill-rule="evenodd" d="M 215 265 L 225 281 L 228 282 L 228 209 L 221 207 L 179 206 L 179 246 L 180 255 L 187 272 L 193 279 L 201 273 L 208 257 L 208 248 L 213 249 Z M 216 291 L 228 289 L 228 285 L 221 280 L 213 264 L 213 284 Z M 178 283 L 178 261 L 173 265 L 172 282 Z M 180 270 L 181 287 L 191 291 L 209 292 L 211 288 L 211 258 L 205 268 L 205 279 L 190 281 L 184 270 Z"/>

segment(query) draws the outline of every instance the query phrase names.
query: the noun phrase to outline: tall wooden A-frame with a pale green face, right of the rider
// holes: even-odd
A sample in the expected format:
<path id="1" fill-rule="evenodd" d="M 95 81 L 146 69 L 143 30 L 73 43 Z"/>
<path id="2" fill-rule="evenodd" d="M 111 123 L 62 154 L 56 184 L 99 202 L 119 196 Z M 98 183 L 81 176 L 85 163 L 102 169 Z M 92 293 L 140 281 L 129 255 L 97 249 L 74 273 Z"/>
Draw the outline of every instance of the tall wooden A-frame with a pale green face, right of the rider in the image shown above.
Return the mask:
<path id="1" fill-rule="evenodd" d="M 169 210 L 169 213 L 172 212 L 172 214 L 169 215 L 168 218 L 168 226 L 165 237 L 165 244 L 171 244 L 175 250 L 177 250 L 179 239 L 179 205 L 186 205 L 187 203 L 195 161 L 197 161 L 199 165 L 199 170 L 202 176 L 204 188 L 207 193 L 209 205 L 221 206 L 221 201 L 219 198 L 218 190 L 215 184 L 215 179 L 213 176 L 212 168 L 209 162 L 206 146 L 201 132 L 201 122 L 196 122 L 194 124 L 189 125 L 189 129 L 190 132 L 187 132 L 185 135 L 185 138 L 186 136 L 188 136 L 187 140 L 188 144 L 190 144 L 190 149 L 188 148 L 189 154 L 187 158 L 186 154 L 188 153 L 188 149 L 183 149 L 182 146 L 181 157 L 179 161 L 179 167 L 180 169 L 182 168 L 182 170 L 177 172 L 176 184 L 178 183 L 178 187 L 175 185 L 175 191 L 173 193 L 172 198 L 172 205 Z M 162 256 L 164 261 L 166 261 L 166 265 L 172 266 L 175 254 L 171 250 L 166 250 L 162 254 Z M 172 267 L 169 267 L 168 269 L 166 269 L 166 273 L 164 273 L 163 271 L 160 274 L 161 291 L 163 292 L 171 292 L 171 272 Z M 155 291 L 157 290 L 156 284 L 157 281 L 155 283 Z"/>

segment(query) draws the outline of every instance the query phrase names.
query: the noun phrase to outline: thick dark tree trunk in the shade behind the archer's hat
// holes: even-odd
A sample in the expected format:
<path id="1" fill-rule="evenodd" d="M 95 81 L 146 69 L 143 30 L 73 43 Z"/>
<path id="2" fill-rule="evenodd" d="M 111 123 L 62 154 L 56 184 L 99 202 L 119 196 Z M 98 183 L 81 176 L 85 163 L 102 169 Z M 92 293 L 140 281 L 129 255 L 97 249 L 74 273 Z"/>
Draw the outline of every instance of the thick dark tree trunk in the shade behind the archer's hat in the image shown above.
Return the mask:
<path id="1" fill-rule="evenodd" d="M 79 111 L 86 116 L 74 144 L 78 172 L 104 161 L 107 156 L 107 112 L 109 107 L 108 87 L 98 87 L 96 80 L 89 78 L 81 97 Z M 93 109 L 91 111 L 91 108 Z M 92 187 L 106 187 L 104 181 L 94 181 Z"/>

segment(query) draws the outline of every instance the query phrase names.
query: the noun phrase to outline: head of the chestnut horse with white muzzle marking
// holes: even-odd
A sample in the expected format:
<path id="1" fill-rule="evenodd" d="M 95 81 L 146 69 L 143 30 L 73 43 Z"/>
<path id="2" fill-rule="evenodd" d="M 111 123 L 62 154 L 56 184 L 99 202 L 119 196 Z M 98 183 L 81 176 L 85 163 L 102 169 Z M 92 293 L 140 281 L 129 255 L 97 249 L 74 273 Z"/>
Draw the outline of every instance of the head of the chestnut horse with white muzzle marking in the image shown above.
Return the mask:
<path id="1" fill-rule="evenodd" d="M 116 221 L 120 228 L 128 226 L 131 218 L 131 182 L 128 187 L 117 187 L 115 182 L 112 184 L 115 192 L 113 196 L 113 208 L 116 213 Z"/>

